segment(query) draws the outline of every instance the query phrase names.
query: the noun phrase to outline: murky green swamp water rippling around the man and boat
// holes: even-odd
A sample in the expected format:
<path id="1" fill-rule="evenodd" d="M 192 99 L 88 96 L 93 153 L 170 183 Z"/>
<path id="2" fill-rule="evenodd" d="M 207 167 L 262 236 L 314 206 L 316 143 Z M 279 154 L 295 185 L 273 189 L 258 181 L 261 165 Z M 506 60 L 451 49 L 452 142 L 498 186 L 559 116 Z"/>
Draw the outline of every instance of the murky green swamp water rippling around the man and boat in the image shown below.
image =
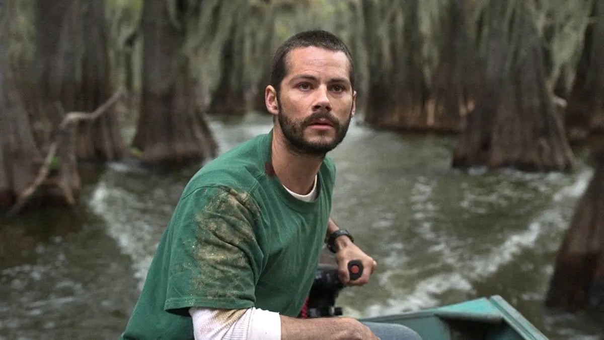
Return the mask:
<path id="1" fill-rule="evenodd" d="M 267 132 L 271 118 L 211 123 L 221 151 Z M 375 316 L 501 295 L 551 339 L 599 339 L 604 319 L 542 308 L 552 263 L 591 171 L 450 168 L 454 137 L 353 125 L 331 153 L 333 217 L 379 263 L 338 305 Z M 0 338 L 116 338 L 188 178 L 113 163 L 92 171 L 71 211 L 0 227 Z M 91 336 L 94 334 L 94 336 Z"/>

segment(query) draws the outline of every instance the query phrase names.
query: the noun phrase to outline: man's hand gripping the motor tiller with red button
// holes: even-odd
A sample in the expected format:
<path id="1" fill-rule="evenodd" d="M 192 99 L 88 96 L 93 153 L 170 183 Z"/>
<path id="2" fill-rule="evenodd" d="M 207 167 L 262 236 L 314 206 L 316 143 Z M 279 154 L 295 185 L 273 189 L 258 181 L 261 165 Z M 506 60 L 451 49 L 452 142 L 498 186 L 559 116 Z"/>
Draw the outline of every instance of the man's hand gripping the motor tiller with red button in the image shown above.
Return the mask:
<path id="1" fill-rule="evenodd" d="M 336 244 L 338 247 L 336 261 L 338 262 L 338 274 L 342 283 L 349 286 L 362 286 L 368 283 L 371 273 L 377 267 L 377 262 L 363 252 L 356 244 L 352 243 L 348 237 L 336 238 Z M 363 264 L 363 273 L 355 281 L 350 281 L 348 272 L 348 263 L 352 260 L 359 260 Z"/>

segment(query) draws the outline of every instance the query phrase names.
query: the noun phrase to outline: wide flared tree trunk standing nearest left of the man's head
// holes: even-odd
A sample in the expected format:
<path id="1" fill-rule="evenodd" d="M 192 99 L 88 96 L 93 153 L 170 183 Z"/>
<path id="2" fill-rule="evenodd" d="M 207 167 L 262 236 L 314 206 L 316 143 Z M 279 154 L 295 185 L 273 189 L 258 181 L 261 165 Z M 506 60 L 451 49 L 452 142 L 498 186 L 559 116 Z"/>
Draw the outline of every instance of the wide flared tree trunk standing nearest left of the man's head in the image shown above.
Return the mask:
<path id="1" fill-rule="evenodd" d="M 173 22 L 167 6 L 166 0 L 143 4 L 143 93 L 133 146 L 149 163 L 187 162 L 216 153 L 210 129 L 196 110 L 194 81 L 182 51 L 184 9 L 176 8 L 179 22 Z"/>

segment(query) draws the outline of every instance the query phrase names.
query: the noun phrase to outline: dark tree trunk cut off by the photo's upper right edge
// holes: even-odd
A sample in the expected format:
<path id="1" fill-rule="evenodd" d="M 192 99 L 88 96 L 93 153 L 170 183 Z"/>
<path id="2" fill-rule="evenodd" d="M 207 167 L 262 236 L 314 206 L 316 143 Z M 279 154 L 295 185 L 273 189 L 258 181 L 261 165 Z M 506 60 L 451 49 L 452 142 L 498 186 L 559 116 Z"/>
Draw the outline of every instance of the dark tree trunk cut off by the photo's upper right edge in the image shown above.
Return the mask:
<path id="1" fill-rule="evenodd" d="M 585 140 L 591 131 L 604 132 L 604 4 L 594 1 L 593 6 L 594 22 L 585 31 L 585 45 L 566 110 L 571 142 Z"/>

